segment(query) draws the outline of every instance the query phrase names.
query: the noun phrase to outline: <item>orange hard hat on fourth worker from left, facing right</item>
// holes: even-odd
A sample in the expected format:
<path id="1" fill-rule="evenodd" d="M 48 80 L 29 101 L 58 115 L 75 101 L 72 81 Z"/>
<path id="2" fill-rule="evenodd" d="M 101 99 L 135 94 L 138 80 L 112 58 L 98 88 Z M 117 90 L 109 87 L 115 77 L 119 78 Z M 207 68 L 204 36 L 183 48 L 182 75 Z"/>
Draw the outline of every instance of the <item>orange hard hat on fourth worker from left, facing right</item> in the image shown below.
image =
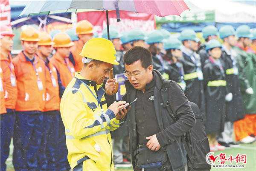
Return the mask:
<path id="1" fill-rule="evenodd" d="M 53 37 L 53 43 L 55 43 L 53 45 L 53 47 L 55 48 L 71 47 L 75 44 L 74 42 L 71 41 L 71 38 L 69 37 L 69 35 L 67 35 L 67 33 L 64 33 L 64 32 L 55 34 L 55 36 Z"/>

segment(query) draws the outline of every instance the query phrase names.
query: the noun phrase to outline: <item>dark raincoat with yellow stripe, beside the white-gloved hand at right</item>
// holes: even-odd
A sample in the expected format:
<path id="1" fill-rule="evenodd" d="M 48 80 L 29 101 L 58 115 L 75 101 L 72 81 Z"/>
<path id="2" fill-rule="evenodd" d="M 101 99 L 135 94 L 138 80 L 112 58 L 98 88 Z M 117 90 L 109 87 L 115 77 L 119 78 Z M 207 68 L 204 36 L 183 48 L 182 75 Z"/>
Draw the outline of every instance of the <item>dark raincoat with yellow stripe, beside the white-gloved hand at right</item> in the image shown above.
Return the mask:
<path id="1" fill-rule="evenodd" d="M 238 71 L 236 69 L 236 61 L 231 57 L 230 51 L 224 45 L 221 54 L 221 60 L 224 62 L 223 68 L 225 69 L 227 88 L 233 94 L 233 99 L 226 102 L 226 121 L 234 122 L 244 118 L 244 107 L 241 96 Z"/>

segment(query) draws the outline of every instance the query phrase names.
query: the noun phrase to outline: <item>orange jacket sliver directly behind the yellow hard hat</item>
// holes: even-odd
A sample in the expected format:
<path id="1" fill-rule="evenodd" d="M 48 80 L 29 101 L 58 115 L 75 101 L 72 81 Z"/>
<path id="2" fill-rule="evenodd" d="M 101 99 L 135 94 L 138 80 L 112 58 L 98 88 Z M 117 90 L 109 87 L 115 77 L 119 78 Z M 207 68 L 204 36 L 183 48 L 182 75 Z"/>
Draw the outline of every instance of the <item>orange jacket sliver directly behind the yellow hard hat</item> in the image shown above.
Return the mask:
<path id="1" fill-rule="evenodd" d="M 75 70 L 76 72 L 81 72 L 84 63 L 82 63 L 81 51 L 83 49 L 84 45 L 79 43 L 79 41 L 75 42 L 75 45 L 70 48 L 71 53 L 73 54 L 74 60 L 75 60 Z"/>

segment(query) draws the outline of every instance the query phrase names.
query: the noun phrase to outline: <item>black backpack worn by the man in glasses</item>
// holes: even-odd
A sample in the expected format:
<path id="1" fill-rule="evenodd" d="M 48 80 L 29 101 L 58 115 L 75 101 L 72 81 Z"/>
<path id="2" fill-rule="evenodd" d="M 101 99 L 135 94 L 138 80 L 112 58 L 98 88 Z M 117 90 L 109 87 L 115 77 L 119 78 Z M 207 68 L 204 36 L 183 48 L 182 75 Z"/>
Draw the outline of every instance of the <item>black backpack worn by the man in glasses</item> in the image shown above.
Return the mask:
<path id="1" fill-rule="evenodd" d="M 160 94 L 163 106 L 167 109 L 172 119 L 176 121 L 178 118 L 172 111 L 168 97 L 169 83 L 171 81 L 172 80 L 164 80 Z M 181 141 L 187 152 L 188 171 L 209 171 L 211 165 L 207 163 L 206 155 L 210 152 L 210 148 L 203 117 L 198 105 L 190 101 L 189 104 L 195 114 L 195 125 L 187 131 L 185 135 L 181 136 Z M 163 113 L 165 114 L 165 112 Z"/>

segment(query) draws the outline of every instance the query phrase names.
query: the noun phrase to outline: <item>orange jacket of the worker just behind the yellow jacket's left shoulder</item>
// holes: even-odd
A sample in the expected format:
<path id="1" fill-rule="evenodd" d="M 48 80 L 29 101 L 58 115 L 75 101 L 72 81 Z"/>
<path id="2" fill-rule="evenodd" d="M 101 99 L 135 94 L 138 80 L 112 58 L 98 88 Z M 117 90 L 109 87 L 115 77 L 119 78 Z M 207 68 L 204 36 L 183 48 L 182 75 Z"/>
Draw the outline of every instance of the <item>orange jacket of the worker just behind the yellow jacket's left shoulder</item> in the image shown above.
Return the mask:
<path id="1" fill-rule="evenodd" d="M 50 63 L 58 70 L 62 85 L 67 87 L 75 75 L 75 68 L 70 60 L 66 57 L 63 59 L 58 54 L 54 54 L 50 58 Z"/>

